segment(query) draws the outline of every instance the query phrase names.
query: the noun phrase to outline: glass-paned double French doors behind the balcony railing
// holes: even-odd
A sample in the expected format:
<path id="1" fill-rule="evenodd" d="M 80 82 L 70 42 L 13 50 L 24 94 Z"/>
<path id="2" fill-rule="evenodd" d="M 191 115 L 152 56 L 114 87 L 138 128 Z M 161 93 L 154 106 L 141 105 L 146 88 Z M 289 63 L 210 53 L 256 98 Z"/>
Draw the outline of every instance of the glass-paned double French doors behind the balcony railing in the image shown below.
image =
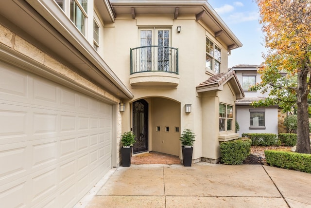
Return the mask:
<path id="1" fill-rule="evenodd" d="M 140 29 L 140 46 L 147 46 L 140 50 L 139 68 L 141 71 L 170 71 L 172 49 L 170 29 Z M 164 46 L 164 47 L 148 47 Z"/>

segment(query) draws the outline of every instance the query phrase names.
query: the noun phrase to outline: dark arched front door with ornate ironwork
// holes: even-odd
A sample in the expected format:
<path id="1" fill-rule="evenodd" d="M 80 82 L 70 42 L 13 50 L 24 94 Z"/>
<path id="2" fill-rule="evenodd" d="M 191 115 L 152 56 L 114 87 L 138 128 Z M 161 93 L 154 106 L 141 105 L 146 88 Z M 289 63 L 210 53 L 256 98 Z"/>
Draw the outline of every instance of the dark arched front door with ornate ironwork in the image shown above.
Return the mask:
<path id="1" fill-rule="evenodd" d="M 133 133 L 136 135 L 133 153 L 148 151 L 148 103 L 144 99 L 133 103 Z"/>

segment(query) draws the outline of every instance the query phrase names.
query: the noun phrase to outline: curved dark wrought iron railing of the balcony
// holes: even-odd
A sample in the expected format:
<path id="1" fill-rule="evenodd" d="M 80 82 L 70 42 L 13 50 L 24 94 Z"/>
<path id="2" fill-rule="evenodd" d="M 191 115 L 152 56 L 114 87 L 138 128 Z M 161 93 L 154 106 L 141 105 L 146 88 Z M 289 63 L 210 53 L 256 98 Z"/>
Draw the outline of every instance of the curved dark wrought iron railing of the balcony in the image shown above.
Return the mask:
<path id="1" fill-rule="evenodd" d="M 131 75 L 141 72 L 178 75 L 178 48 L 154 45 L 131 48 Z"/>

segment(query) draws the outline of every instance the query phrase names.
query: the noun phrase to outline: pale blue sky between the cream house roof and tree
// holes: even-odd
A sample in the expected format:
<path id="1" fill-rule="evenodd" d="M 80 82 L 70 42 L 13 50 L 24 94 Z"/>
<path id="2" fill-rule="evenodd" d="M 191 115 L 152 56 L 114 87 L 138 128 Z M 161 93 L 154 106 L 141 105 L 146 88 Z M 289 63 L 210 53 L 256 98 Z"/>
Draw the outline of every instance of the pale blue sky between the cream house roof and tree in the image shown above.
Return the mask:
<path id="1" fill-rule="evenodd" d="M 264 36 L 259 24 L 259 9 L 254 0 L 207 0 L 243 46 L 231 51 L 228 68 L 238 64 L 263 62 Z"/>

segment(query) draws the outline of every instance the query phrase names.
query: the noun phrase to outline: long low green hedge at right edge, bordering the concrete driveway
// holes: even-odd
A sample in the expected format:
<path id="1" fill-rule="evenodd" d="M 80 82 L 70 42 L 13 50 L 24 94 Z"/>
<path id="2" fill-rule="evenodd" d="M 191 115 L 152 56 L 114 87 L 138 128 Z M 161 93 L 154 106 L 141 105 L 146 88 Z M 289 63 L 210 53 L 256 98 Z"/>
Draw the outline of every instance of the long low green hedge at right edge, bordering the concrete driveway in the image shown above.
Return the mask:
<path id="1" fill-rule="evenodd" d="M 265 150 L 264 154 L 270 166 L 311 173 L 311 154 L 275 150 Z"/>

